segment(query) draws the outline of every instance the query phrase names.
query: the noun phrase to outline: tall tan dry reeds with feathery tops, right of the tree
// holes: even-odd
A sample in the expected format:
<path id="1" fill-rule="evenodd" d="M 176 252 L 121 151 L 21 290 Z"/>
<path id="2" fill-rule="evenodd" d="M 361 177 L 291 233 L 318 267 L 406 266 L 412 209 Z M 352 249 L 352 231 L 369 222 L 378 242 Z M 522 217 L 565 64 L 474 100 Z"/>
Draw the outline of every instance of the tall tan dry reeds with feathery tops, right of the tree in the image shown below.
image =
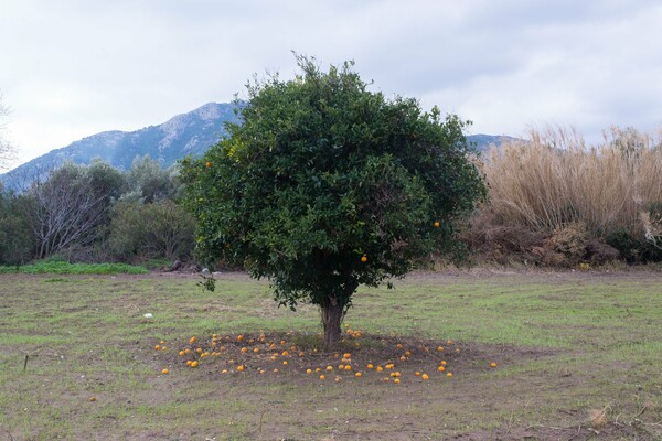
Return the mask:
<path id="1" fill-rule="evenodd" d="M 572 130 L 530 135 L 527 142 L 492 148 L 482 164 L 485 208 L 496 223 L 541 232 L 580 224 L 594 237 L 613 230 L 644 237 L 647 222 L 649 233 L 660 227 L 650 211 L 662 207 L 662 137 L 612 128 L 588 148 Z"/>

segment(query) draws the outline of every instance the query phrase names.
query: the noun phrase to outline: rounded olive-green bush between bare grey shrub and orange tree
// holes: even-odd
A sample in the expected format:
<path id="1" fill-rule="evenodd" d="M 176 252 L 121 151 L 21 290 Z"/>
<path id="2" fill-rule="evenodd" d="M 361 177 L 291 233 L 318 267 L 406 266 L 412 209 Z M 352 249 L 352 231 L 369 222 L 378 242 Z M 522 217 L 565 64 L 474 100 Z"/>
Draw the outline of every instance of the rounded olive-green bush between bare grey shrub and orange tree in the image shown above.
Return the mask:
<path id="1" fill-rule="evenodd" d="M 113 209 L 108 246 L 124 260 L 184 259 L 193 249 L 194 229 L 191 214 L 172 201 L 119 202 Z"/>

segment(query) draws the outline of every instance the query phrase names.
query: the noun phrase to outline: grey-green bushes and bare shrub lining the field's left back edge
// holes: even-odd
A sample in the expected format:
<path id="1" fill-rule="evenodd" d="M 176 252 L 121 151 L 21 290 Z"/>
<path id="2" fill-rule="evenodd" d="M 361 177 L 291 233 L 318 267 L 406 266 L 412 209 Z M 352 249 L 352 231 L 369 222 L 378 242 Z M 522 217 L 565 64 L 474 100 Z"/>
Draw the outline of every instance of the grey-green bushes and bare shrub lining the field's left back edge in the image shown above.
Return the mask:
<path id="1" fill-rule="evenodd" d="M 178 205 L 181 194 L 177 166 L 149 157 L 126 172 L 65 163 L 20 192 L 0 192 L 0 265 L 186 260 L 195 222 Z"/>

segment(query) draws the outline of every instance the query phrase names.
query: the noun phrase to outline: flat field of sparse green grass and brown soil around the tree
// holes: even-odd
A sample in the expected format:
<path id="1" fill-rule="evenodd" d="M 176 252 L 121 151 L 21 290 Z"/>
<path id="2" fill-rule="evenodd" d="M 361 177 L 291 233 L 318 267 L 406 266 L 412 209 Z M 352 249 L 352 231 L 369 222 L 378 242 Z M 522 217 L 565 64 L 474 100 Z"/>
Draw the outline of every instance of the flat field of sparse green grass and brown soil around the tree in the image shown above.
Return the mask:
<path id="1" fill-rule="evenodd" d="M 662 439 L 660 272 L 415 273 L 359 290 L 338 357 L 314 309 L 199 280 L 0 275 L 0 440 Z"/>

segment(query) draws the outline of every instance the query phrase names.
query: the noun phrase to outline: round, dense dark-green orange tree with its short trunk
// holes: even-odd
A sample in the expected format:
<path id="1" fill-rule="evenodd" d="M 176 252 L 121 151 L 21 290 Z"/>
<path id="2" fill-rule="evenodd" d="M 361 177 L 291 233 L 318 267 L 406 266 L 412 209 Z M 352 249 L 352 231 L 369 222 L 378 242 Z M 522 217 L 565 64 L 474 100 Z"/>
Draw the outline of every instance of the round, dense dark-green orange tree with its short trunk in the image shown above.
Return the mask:
<path id="1" fill-rule="evenodd" d="M 298 64 L 292 80 L 249 83 L 242 123 L 182 179 L 199 258 L 267 278 L 292 310 L 319 305 L 331 349 L 356 288 L 451 249 L 485 187 L 456 116 L 367 90 L 353 63 Z"/>

